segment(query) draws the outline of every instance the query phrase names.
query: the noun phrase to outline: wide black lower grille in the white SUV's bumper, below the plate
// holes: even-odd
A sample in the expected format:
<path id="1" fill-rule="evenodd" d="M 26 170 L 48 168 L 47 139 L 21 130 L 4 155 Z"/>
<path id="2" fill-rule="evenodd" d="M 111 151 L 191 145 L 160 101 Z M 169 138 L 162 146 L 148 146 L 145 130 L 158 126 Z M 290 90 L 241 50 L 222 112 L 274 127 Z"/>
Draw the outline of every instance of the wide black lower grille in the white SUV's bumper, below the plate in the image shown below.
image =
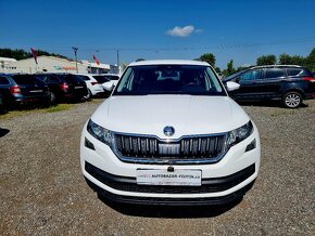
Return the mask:
<path id="1" fill-rule="evenodd" d="M 85 163 L 86 171 L 101 183 L 117 189 L 135 193 L 156 194 L 206 194 L 227 191 L 255 173 L 255 165 L 223 178 L 203 179 L 201 186 L 164 186 L 164 185 L 138 185 L 136 178 L 123 178 L 104 172 L 103 170 Z"/>

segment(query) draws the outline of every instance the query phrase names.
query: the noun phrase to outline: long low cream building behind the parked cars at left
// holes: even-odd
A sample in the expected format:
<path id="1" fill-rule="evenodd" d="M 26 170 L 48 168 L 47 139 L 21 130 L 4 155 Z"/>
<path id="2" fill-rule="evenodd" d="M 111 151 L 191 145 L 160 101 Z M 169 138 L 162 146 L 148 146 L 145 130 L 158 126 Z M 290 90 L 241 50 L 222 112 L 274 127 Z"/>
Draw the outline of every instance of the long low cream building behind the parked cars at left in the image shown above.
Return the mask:
<path id="1" fill-rule="evenodd" d="M 110 71 L 111 65 L 98 65 L 88 61 L 78 61 L 77 69 L 80 74 L 105 74 Z M 76 73 L 76 62 L 56 56 L 41 55 L 37 57 L 37 64 L 33 57 L 10 62 L 4 73 Z"/>

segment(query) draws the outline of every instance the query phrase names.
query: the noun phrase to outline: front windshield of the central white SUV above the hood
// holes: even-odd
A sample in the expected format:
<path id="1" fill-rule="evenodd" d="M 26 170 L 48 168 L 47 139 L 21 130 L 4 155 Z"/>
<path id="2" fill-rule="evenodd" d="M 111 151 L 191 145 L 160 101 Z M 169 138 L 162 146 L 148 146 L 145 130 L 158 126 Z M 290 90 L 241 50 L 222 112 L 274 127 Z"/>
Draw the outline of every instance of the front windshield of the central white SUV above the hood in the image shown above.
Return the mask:
<path id="1" fill-rule="evenodd" d="M 207 66 L 130 66 L 113 95 L 142 94 L 226 95 L 216 76 Z"/>

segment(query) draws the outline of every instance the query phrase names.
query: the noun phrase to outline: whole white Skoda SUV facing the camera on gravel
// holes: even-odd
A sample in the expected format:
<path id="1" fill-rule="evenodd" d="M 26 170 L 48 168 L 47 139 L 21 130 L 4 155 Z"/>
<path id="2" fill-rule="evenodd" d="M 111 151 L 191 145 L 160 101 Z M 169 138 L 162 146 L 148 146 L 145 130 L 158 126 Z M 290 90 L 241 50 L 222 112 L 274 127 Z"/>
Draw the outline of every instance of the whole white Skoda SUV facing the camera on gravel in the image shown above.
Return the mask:
<path id="1" fill-rule="evenodd" d="M 226 204 L 252 186 L 260 158 L 254 122 L 196 61 L 131 63 L 80 141 L 88 184 L 121 202 Z"/>

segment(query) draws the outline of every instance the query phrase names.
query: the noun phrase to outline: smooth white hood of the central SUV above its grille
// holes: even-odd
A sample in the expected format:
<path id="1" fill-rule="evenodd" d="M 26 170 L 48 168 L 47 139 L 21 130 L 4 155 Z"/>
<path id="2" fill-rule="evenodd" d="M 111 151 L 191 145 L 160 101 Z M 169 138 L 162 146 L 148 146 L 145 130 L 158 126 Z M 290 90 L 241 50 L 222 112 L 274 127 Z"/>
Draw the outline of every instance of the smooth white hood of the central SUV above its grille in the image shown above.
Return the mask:
<path id="1" fill-rule="evenodd" d="M 91 119 L 109 130 L 156 135 L 172 126 L 172 139 L 182 135 L 220 133 L 249 121 L 248 115 L 228 96 L 141 95 L 111 96 Z"/>

